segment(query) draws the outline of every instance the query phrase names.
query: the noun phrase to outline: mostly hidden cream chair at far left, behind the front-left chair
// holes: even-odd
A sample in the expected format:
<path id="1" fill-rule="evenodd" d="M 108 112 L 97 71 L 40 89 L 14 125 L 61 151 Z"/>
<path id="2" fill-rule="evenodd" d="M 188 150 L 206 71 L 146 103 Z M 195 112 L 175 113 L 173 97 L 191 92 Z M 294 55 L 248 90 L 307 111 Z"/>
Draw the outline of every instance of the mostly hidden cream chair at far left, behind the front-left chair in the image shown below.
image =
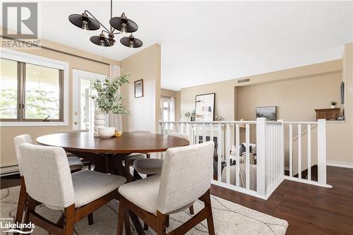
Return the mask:
<path id="1" fill-rule="evenodd" d="M 28 134 L 18 135 L 13 138 L 13 143 L 15 145 L 16 158 L 18 162 L 18 169 L 20 171 L 20 195 L 18 197 L 18 205 L 15 222 L 22 222 L 23 212 L 25 211 L 25 205 L 27 203 L 27 193 L 25 189 L 25 180 L 23 179 L 23 171 L 22 171 L 22 157 L 20 155 L 20 145 L 23 143 L 33 143 L 32 138 Z M 83 167 L 83 162 L 78 157 L 68 157 L 68 165 L 71 171 L 76 171 Z M 90 216 L 90 224 L 92 224 L 92 218 Z"/>

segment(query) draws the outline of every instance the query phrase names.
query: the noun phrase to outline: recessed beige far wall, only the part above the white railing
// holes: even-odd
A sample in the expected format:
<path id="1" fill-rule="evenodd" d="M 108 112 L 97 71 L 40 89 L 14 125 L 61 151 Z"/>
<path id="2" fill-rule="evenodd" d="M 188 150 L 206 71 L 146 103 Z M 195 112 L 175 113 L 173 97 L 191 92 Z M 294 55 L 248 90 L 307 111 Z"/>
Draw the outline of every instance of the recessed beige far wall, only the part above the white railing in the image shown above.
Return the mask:
<path id="1" fill-rule="evenodd" d="M 237 88 L 238 119 L 254 120 L 256 107 L 277 106 L 277 119 L 316 121 L 313 109 L 340 102 L 342 73 Z M 340 107 L 340 105 L 338 106 Z"/>

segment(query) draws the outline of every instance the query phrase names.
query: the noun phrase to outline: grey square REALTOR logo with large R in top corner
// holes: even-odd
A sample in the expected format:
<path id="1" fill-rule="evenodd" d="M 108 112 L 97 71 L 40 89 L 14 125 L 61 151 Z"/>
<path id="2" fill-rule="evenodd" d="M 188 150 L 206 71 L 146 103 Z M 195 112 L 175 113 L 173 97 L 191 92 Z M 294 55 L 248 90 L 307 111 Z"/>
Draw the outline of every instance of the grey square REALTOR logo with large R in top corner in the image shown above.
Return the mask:
<path id="1" fill-rule="evenodd" d="M 36 2 L 2 3 L 2 47 L 38 47 L 38 4 Z M 7 40 L 8 39 L 8 40 Z"/>

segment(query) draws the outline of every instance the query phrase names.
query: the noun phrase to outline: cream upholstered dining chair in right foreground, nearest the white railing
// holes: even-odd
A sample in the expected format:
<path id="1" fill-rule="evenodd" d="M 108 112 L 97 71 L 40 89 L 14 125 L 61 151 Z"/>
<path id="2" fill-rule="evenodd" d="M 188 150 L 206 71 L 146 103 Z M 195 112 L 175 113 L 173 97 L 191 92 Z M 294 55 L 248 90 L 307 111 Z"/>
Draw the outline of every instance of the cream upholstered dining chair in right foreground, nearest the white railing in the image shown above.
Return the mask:
<path id="1" fill-rule="evenodd" d="M 215 234 L 210 202 L 214 146 L 215 143 L 206 142 L 169 148 L 160 175 L 121 186 L 116 234 L 122 234 L 124 217 L 130 212 L 143 219 L 157 235 L 166 234 L 167 217 L 185 210 L 198 199 L 205 207 L 169 234 L 186 234 L 204 219 L 207 219 L 208 233 Z M 125 226 L 129 226 L 128 223 L 125 219 Z"/>

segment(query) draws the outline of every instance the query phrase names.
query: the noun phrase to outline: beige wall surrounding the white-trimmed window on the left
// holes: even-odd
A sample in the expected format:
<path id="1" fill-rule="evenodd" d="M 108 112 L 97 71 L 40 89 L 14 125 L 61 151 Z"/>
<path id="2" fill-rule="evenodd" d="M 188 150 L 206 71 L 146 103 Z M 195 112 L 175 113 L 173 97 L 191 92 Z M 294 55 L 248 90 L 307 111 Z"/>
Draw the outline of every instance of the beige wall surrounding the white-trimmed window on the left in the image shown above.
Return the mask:
<path id="1" fill-rule="evenodd" d="M 1 40 L 2 41 L 2 40 Z M 11 166 L 17 164 L 15 151 L 13 147 L 13 138 L 16 135 L 21 135 L 28 133 L 35 140 L 40 135 L 46 135 L 49 133 L 56 133 L 60 129 L 71 129 L 72 128 L 72 97 L 75 89 L 72 87 L 72 69 L 77 68 L 83 71 L 90 71 L 93 73 L 101 73 L 104 75 L 109 75 L 109 65 L 116 64 L 119 65 L 119 61 L 113 61 L 111 59 L 106 59 L 97 55 L 93 55 L 87 52 L 82 52 L 78 49 L 71 47 L 66 47 L 61 44 L 56 44 L 54 42 L 48 42 L 42 40 L 42 43 L 47 46 L 54 48 L 55 50 L 62 50 L 66 53 L 78 54 L 80 56 L 85 56 L 88 59 L 83 59 L 78 56 L 72 56 L 64 54 L 61 52 L 54 52 L 50 49 L 25 49 L 22 52 L 35 54 L 37 56 L 44 56 L 50 59 L 56 59 L 60 61 L 66 61 L 69 64 L 68 70 L 68 126 L 36 126 L 36 127 L 1 127 L 0 128 L 0 147 L 1 147 L 1 167 Z M 92 61 L 91 59 L 102 61 L 104 64 Z"/>

